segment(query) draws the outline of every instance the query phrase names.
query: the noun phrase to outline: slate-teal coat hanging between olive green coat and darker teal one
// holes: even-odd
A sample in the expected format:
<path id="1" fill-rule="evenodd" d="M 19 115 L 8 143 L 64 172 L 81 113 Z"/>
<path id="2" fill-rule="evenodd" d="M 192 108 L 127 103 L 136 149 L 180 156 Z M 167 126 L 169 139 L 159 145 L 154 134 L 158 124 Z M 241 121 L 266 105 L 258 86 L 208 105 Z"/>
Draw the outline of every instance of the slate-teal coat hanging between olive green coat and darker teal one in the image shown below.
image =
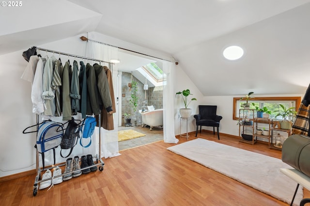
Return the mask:
<path id="1" fill-rule="evenodd" d="M 73 61 L 73 72 L 72 72 L 72 80 L 71 80 L 71 88 L 70 88 L 70 97 L 71 97 L 71 109 L 73 115 L 76 115 L 80 110 L 79 108 L 79 82 L 78 82 L 78 62 L 76 60 Z"/>

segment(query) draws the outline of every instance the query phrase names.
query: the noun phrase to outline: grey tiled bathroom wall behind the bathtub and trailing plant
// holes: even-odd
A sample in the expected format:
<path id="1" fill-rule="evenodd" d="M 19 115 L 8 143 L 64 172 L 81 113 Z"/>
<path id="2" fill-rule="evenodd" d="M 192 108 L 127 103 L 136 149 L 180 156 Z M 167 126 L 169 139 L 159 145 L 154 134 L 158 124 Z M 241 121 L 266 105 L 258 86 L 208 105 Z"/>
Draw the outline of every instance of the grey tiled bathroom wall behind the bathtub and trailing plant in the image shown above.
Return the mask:
<path id="1" fill-rule="evenodd" d="M 146 99 L 145 99 L 145 90 L 143 90 L 144 83 L 140 82 L 136 77 L 134 77 L 134 81 L 138 82 L 138 96 L 139 102 L 137 106 L 137 110 L 134 113 L 132 105 L 129 103 L 131 99 L 131 91 L 129 90 L 128 83 L 131 82 L 131 74 L 130 73 L 122 73 L 122 116 L 124 113 L 130 114 L 131 118 L 137 119 L 137 124 L 141 123 L 141 116 L 139 114 L 139 110 L 142 109 L 142 102 L 146 101 L 147 105 L 154 105 L 155 109 L 163 108 L 163 87 L 153 87 L 146 90 Z M 131 121 L 133 123 L 133 121 Z M 124 120 L 122 121 L 122 125 L 124 125 Z"/>

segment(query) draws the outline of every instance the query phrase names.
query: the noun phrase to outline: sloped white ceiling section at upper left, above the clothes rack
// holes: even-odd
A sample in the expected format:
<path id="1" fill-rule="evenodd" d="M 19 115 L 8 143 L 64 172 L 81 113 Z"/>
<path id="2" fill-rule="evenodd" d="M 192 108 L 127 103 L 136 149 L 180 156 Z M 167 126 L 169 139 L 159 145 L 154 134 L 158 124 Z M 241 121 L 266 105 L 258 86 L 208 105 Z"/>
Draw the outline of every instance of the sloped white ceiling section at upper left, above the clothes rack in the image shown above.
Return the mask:
<path id="1" fill-rule="evenodd" d="M 102 15 L 66 0 L 0 7 L 0 55 L 94 30 Z"/>

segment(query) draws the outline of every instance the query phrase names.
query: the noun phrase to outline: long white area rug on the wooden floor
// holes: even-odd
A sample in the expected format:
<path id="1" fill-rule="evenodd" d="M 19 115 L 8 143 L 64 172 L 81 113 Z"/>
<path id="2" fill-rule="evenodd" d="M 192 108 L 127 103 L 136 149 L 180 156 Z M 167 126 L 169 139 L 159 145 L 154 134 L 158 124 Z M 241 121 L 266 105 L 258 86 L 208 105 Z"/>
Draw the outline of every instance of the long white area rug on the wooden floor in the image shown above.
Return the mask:
<path id="1" fill-rule="evenodd" d="M 280 172 L 280 168 L 292 169 L 280 159 L 201 138 L 167 149 L 283 202 L 292 201 L 297 183 Z M 294 205 L 302 198 L 299 186 Z"/>

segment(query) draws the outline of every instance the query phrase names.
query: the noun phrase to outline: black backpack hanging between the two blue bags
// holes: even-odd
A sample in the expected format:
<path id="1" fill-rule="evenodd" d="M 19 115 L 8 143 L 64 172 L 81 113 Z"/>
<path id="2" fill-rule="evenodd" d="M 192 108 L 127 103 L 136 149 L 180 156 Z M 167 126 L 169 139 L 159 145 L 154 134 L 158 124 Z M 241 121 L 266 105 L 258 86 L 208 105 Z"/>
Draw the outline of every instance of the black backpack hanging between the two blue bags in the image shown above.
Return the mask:
<path id="1" fill-rule="evenodd" d="M 74 118 L 69 120 L 68 126 L 65 129 L 64 135 L 62 136 L 62 143 L 60 147 L 62 149 L 70 149 L 69 154 L 66 157 L 62 156 L 62 150 L 60 151 L 60 155 L 63 158 L 67 158 L 72 153 L 73 147 L 78 143 L 80 126 L 75 122 Z"/>

